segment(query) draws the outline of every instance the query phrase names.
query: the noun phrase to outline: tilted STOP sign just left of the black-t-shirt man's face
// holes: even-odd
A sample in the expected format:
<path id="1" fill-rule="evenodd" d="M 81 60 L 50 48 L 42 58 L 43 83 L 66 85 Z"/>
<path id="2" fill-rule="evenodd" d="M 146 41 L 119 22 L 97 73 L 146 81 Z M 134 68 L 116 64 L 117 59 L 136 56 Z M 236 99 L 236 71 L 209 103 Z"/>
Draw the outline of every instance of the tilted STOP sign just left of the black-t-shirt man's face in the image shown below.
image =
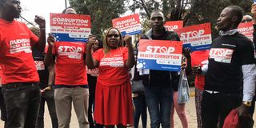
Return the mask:
<path id="1" fill-rule="evenodd" d="M 195 26 L 186 26 L 177 30 L 183 47 L 189 47 L 190 51 L 210 49 L 211 29 L 210 23 Z"/>

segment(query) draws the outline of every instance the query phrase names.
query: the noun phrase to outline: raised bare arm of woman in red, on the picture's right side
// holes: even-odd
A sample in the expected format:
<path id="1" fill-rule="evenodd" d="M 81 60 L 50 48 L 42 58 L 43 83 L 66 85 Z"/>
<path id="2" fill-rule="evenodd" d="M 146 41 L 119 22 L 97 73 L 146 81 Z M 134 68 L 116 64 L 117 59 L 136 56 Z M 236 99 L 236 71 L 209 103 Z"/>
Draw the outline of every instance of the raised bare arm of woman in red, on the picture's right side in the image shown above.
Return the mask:
<path id="1" fill-rule="evenodd" d="M 124 42 L 126 42 L 126 46 L 128 48 L 128 59 L 126 61 L 126 66 L 129 68 L 132 68 L 135 63 L 135 58 L 134 58 L 134 48 L 131 44 L 131 36 L 126 35 L 124 38 Z"/>

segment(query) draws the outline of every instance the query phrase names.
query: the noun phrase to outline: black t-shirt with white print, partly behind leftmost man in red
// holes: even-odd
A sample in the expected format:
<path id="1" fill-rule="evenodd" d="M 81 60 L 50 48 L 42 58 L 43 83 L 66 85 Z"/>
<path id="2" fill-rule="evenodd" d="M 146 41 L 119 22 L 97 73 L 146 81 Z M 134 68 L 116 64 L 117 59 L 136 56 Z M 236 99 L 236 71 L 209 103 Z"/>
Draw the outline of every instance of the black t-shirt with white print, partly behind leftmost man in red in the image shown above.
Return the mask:
<path id="1" fill-rule="evenodd" d="M 44 54 L 39 52 L 36 48 L 32 47 L 32 54 L 34 58 L 34 63 L 37 67 L 38 74 L 39 74 L 39 79 L 41 83 L 41 89 L 45 88 L 48 86 L 48 70 L 47 67 L 44 65 L 43 58 Z"/>

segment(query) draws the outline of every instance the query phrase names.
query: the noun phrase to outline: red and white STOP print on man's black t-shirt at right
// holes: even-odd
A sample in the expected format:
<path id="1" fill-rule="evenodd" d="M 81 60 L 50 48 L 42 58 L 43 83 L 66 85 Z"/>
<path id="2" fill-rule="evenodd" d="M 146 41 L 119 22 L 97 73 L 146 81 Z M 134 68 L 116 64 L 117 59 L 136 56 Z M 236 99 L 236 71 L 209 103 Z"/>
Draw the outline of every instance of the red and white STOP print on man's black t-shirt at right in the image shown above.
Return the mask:
<path id="1" fill-rule="evenodd" d="M 234 50 L 226 48 L 212 48 L 210 49 L 210 57 L 214 58 L 215 62 L 230 63 Z"/>

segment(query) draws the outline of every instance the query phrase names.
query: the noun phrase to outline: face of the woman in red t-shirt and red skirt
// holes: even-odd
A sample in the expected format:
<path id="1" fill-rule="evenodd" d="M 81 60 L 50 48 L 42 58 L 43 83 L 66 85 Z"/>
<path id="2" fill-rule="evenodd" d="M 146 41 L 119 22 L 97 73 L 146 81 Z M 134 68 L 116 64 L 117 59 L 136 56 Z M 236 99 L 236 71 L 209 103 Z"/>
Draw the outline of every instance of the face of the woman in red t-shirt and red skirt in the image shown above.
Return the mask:
<path id="1" fill-rule="evenodd" d="M 107 42 L 106 44 L 110 46 L 111 49 L 116 49 L 118 48 L 118 43 L 121 40 L 120 35 L 118 34 L 118 30 L 111 29 L 109 31 L 109 34 L 106 35 Z"/>

